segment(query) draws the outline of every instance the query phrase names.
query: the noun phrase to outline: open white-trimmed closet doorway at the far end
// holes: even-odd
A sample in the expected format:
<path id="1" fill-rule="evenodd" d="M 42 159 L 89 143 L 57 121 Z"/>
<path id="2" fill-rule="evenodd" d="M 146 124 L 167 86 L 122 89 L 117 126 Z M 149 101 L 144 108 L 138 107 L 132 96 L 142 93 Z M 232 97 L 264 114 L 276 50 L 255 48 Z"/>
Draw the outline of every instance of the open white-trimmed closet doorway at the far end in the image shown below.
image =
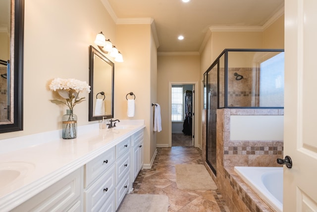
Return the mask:
<path id="1" fill-rule="evenodd" d="M 169 146 L 195 144 L 195 82 L 170 82 Z"/>

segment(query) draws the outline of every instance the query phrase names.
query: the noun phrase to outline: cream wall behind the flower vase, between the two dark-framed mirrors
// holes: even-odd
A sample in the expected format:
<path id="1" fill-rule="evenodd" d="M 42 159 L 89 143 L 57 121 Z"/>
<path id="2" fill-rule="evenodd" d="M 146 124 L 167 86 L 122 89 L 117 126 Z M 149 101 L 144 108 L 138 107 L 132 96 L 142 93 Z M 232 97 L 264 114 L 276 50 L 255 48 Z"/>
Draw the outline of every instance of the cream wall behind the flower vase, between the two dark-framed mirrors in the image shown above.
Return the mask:
<path id="1" fill-rule="evenodd" d="M 24 130 L 0 139 L 61 129 L 66 107 L 50 102 L 48 83 L 55 77 L 89 80 L 89 45 L 103 31 L 115 44 L 115 24 L 100 0 L 25 0 Z M 88 122 L 88 93 L 74 108 L 78 125 Z"/>

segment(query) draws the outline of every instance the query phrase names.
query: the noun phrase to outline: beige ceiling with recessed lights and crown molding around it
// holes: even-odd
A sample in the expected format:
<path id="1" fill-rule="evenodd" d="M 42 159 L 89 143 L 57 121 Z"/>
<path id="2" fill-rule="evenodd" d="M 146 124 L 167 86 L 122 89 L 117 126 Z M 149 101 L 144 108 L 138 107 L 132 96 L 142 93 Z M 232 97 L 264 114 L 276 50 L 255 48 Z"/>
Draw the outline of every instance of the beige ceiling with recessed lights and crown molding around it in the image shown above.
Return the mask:
<path id="1" fill-rule="evenodd" d="M 263 30 L 284 0 L 102 0 L 115 22 L 153 18 L 159 52 L 199 52 L 210 29 Z M 122 21 L 121 21 L 122 22 Z M 184 40 L 178 40 L 178 35 Z"/>

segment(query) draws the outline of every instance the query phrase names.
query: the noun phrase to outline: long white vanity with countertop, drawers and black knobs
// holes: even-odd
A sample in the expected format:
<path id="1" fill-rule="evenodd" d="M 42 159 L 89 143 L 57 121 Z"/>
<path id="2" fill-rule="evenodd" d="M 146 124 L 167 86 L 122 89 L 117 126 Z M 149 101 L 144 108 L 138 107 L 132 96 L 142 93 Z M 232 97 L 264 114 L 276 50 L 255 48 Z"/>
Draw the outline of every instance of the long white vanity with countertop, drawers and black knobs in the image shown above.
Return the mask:
<path id="1" fill-rule="evenodd" d="M 103 130 L 93 124 L 79 127 L 77 139 L 53 134 L 52 141 L 1 153 L 0 176 L 10 177 L 0 182 L 0 211 L 116 211 L 143 166 L 144 127 L 143 120 Z"/>

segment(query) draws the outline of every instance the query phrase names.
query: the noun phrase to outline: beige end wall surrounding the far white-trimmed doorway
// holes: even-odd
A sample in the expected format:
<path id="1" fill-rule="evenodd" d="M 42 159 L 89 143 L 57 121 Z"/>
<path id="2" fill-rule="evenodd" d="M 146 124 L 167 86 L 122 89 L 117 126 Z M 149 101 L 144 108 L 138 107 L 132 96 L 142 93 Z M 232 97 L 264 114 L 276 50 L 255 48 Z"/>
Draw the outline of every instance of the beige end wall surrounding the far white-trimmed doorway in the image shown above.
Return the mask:
<path id="1" fill-rule="evenodd" d="M 158 145 L 168 145 L 168 86 L 169 82 L 195 82 L 199 81 L 200 77 L 200 56 L 187 55 L 187 56 L 158 56 L 158 103 L 161 107 L 161 121 L 162 131 L 158 133 Z M 199 94 L 199 83 L 195 87 L 196 92 Z M 199 108 L 199 95 L 195 95 L 195 103 Z M 196 123 L 200 115 L 195 115 Z M 196 125 L 197 126 L 197 125 Z M 198 128 L 195 129 L 199 130 Z M 199 131 L 197 131 L 199 132 Z M 196 134 L 197 135 L 197 134 Z M 195 137 L 196 139 L 196 137 Z M 198 139 L 198 138 L 197 138 Z M 198 141 L 198 140 L 197 140 Z"/>

